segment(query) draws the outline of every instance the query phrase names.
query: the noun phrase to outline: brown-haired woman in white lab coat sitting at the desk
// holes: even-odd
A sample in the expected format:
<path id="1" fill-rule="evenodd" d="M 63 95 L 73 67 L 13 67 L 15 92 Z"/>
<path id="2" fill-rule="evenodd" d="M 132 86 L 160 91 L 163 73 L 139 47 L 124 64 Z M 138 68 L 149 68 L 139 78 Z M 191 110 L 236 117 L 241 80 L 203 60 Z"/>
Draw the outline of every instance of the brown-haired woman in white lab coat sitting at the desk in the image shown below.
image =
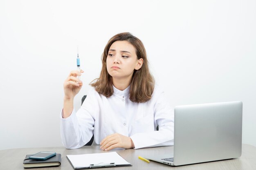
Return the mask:
<path id="1" fill-rule="evenodd" d="M 84 146 L 93 134 L 93 145 L 102 150 L 173 145 L 173 109 L 155 86 L 138 38 L 119 33 L 108 41 L 100 77 L 91 82 L 94 88 L 76 112 L 73 100 L 83 86 L 77 78 L 81 73 L 71 71 L 64 82 L 61 138 L 66 148 Z"/>

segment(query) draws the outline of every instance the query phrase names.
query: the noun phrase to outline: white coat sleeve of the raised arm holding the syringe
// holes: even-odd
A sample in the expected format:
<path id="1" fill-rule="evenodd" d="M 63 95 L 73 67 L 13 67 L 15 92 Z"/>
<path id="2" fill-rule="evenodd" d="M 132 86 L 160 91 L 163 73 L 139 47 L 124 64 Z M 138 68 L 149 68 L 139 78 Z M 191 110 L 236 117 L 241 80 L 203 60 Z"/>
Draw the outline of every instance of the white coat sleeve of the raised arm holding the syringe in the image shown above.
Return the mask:
<path id="1" fill-rule="evenodd" d="M 61 139 L 67 149 L 75 149 L 84 146 L 90 141 L 94 133 L 95 112 L 97 106 L 93 94 L 88 93 L 81 108 L 76 112 L 73 109 L 71 115 L 63 118 L 61 112 Z"/>

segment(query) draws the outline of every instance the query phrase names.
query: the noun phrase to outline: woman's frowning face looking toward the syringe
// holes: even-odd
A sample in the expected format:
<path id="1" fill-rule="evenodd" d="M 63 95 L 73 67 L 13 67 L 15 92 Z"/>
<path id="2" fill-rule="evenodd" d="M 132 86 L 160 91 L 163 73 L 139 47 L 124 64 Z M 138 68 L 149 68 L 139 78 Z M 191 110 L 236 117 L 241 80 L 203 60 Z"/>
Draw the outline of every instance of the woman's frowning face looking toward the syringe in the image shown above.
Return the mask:
<path id="1" fill-rule="evenodd" d="M 137 59 L 136 49 L 128 41 L 114 42 L 108 51 L 107 70 L 113 78 L 131 78 L 134 69 L 141 68 L 141 60 Z"/>

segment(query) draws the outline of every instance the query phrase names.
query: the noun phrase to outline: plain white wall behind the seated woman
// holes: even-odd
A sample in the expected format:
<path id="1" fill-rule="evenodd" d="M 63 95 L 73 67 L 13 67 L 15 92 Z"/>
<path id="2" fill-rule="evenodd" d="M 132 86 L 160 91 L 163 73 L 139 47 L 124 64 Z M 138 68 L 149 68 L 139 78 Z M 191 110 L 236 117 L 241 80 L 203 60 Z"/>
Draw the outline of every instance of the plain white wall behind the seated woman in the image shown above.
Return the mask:
<path id="1" fill-rule="evenodd" d="M 243 101 L 243 143 L 256 146 L 256 1 L 0 1 L 0 150 L 62 146 L 63 82 L 99 76 L 101 53 L 131 32 L 172 106 Z"/>

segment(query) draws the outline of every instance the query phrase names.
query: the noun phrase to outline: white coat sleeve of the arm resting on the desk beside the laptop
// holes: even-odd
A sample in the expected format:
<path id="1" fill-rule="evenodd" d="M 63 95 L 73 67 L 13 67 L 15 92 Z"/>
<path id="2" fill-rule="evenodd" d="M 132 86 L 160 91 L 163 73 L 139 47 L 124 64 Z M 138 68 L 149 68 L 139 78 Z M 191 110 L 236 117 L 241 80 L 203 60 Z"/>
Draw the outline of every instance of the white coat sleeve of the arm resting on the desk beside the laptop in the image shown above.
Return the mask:
<path id="1" fill-rule="evenodd" d="M 159 130 L 135 133 L 130 136 L 135 149 L 173 145 L 174 110 L 166 101 L 164 93 L 161 93 L 157 98 L 154 109 L 154 119 L 159 126 Z"/>

